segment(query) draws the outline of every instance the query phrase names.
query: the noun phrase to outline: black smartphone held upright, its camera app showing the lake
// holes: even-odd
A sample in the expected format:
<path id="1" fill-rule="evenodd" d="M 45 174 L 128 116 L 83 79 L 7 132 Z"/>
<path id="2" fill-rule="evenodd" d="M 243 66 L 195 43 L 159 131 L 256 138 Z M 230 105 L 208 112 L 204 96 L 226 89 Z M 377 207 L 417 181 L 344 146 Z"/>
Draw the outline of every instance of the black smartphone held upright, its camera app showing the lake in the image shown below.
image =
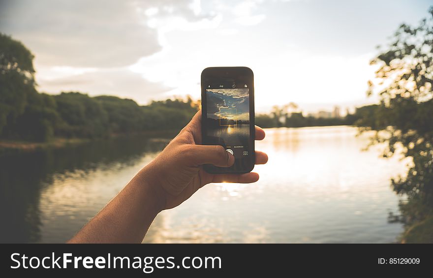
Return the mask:
<path id="1" fill-rule="evenodd" d="M 254 76 L 245 66 L 208 67 L 201 73 L 203 145 L 220 145 L 235 156 L 231 167 L 203 165 L 212 174 L 254 168 Z"/>

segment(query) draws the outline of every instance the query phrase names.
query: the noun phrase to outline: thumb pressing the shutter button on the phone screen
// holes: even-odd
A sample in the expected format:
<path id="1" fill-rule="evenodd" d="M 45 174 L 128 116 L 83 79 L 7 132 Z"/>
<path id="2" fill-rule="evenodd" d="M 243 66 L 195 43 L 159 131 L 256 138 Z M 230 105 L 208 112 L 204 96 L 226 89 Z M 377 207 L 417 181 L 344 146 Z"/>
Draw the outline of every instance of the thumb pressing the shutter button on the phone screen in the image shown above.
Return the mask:
<path id="1" fill-rule="evenodd" d="M 224 147 L 216 145 L 189 145 L 187 156 L 196 165 L 213 164 L 218 167 L 230 167 L 235 162 L 233 154 Z"/>

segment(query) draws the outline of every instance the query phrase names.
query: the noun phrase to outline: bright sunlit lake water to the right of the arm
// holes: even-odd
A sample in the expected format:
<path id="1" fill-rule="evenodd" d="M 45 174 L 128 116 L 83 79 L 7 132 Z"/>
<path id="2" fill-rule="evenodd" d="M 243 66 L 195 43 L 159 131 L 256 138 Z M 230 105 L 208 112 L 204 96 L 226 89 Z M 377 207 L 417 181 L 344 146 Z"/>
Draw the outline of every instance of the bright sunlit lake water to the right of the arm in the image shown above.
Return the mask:
<path id="1" fill-rule="evenodd" d="M 398 212 L 390 178 L 405 161 L 362 152 L 368 135 L 352 127 L 268 129 L 257 149 L 269 154 L 252 185 L 208 185 L 145 242 L 391 243 L 402 232 L 387 215 Z M 379 146 L 377 146 L 380 148 Z M 212 231 L 212 232 L 211 232 Z"/>

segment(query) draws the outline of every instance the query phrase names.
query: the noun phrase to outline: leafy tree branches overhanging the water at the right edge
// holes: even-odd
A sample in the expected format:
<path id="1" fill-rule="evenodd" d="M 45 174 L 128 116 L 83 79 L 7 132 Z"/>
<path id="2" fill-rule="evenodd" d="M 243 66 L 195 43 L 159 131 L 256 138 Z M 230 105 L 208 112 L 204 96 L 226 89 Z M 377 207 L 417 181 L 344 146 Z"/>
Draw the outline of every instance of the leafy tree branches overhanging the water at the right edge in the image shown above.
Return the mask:
<path id="1" fill-rule="evenodd" d="M 376 131 L 375 142 L 388 143 L 385 156 L 401 150 L 412 158 L 407 175 L 392 180 L 394 190 L 407 196 L 400 208 L 409 227 L 433 213 L 433 18 L 415 28 L 402 24 L 371 63 L 379 66 L 378 82 L 369 82 L 368 94 L 381 88 L 381 101 L 366 108 L 358 124 Z"/>

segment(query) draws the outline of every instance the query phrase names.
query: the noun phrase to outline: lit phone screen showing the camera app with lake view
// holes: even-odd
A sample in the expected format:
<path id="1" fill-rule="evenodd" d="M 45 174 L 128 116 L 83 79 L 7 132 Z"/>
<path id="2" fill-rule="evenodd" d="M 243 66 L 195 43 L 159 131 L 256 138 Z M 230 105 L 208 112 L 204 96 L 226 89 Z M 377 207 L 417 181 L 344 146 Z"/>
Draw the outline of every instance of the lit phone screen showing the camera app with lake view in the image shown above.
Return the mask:
<path id="1" fill-rule="evenodd" d="M 249 88 L 235 87 L 206 89 L 207 136 L 211 144 L 242 158 L 248 155 Z"/>

